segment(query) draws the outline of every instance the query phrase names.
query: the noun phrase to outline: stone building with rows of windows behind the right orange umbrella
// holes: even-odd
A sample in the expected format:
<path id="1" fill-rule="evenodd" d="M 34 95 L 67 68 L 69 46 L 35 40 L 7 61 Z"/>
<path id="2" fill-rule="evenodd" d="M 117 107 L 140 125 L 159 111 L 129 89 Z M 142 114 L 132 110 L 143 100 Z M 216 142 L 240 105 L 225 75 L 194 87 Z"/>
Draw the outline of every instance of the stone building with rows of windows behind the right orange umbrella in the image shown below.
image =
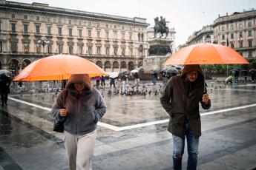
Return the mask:
<path id="1" fill-rule="evenodd" d="M 256 58 L 256 10 L 219 16 L 212 27 L 217 44 L 234 48 L 244 58 Z"/>

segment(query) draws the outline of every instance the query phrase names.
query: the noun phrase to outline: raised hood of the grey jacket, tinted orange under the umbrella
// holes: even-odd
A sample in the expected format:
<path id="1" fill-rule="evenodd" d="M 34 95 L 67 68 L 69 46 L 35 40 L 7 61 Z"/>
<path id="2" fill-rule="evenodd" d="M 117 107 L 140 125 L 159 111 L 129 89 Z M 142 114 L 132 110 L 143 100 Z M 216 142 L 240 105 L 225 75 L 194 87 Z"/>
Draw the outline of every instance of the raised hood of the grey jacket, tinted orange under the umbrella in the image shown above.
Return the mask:
<path id="1" fill-rule="evenodd" d="M 87 74 L 78 74 L 78 75 L 70 75 L 70 79 L 68 84 L 66 84 L 66 89 L 72 91 L 76 91 L 74 84 L 80 83 L 85 85 L 84 92 L 91 92 L 92 84 L 91 78 Z"/>

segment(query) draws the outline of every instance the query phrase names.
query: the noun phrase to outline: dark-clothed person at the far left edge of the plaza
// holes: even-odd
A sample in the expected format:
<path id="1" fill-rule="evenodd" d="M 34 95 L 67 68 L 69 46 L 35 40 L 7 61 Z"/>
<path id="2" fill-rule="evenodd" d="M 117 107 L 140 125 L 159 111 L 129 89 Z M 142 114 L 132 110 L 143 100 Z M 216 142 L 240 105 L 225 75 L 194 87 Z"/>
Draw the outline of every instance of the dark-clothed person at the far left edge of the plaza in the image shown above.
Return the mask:
<path id="1" fill-rule="evenodd" d="M 6 75 L 0 76 L 0 94 L 1 94 L 1 106 L 7 104 L 8 94 L 10 93 L 10 78 Z"/>

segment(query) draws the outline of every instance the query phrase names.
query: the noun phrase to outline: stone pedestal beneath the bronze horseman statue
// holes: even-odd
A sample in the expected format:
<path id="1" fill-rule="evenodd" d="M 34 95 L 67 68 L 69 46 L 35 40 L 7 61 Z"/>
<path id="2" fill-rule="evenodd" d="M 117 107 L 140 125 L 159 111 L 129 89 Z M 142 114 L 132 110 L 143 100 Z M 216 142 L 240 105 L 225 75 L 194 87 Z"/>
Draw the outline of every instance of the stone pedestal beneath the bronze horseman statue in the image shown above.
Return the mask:
<path id="1" fill-rule="evenodd" d="M 163 63 L 171 56 L 171 40 L 165 38 L 154 38 L 147 41 L 149 44 L 149 55 L 143 59 L 143 69 L 145 73 L 150 73 L 151 69 L 160 71 Z"/>

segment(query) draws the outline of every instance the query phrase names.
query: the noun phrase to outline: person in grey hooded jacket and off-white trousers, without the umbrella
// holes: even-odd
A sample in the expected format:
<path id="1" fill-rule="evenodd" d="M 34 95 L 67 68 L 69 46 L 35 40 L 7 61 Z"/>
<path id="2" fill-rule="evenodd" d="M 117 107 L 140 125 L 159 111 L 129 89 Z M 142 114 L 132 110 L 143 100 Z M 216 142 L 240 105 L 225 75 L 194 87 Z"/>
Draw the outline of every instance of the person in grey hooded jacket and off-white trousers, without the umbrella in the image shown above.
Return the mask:
<path id="1" fill-rule="evenodd" d="M 66 89 L 51 109 L 53 118 L 64 121 L 64 143 L 70 170 L 91 169 L 96 123 L 105 112 L 102 95 L 92 86 L 89 76 L 71 75 Z"/>

